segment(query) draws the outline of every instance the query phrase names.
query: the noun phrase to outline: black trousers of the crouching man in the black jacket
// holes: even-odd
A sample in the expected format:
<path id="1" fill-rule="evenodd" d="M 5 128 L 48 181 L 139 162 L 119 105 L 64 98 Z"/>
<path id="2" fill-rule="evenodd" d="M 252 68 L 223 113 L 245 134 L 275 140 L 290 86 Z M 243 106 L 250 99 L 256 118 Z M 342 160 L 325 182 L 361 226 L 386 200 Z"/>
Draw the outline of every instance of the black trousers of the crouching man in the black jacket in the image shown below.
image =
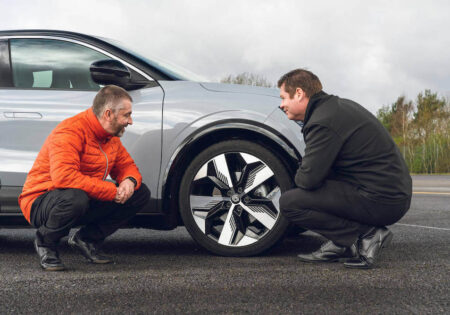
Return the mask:
<path id="1" fill-rule="evenodd" d="M 337 180 L 326 180 L 316 190 L 294 188 L 280 197 L 281 212 L 289 221 L 340 246 L 351 246 L 374 226 L 394 224 L 410 203 L 411 197 L 396 203 L 373 201 L 357 187 Z"/>

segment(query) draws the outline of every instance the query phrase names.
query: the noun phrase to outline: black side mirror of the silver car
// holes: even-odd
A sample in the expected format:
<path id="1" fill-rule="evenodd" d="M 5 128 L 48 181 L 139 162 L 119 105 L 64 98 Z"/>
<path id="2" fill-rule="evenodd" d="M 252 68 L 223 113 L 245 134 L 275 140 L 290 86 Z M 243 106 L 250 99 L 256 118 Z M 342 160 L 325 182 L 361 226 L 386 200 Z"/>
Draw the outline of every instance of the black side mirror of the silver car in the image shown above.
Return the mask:
<path id="1" fill-rule="evenodd" d="M 126 88 L 131 79 L 130 70 L 120 61 L 99 60 L 91 64 L 92 80 L 101 85 L 114 84 Z"/>

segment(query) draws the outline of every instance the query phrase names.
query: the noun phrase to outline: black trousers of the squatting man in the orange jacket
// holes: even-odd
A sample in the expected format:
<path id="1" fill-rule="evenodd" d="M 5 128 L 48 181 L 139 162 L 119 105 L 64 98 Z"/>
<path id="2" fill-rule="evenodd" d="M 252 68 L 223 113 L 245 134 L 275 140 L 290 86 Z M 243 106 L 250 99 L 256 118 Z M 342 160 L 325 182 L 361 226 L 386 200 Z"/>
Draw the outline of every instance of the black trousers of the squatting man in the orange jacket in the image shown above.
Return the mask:
<path id="1" fill-rule="evenodd" d="M 78 225 L 82 225 L 82 239 L 97 243 L 134 217 L 149 199 L 150 191 L 144 183 L 124 204 L 90 199 L 80 189 L 55 189 L 33 202 L 31 224 L 37 228 L 40 246 L 57 246 Z"/>

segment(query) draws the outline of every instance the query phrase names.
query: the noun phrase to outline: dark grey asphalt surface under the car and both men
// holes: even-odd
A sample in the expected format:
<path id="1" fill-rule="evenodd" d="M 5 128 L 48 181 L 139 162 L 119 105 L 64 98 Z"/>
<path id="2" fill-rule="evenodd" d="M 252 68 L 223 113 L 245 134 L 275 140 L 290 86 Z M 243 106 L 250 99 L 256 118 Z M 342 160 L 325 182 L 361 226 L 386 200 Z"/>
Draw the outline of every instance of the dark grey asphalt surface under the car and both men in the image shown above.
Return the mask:
<path id="1" fill-rule="evenodd" d="M 372 270 L 300 262 L 297 253 L 323 241 L 312 233 L 263 256 L 227 258 L 179 228 L 117 232 L 104 247 L 116 262 L 104 266 L 63 244 L 69 270 L 51 273 L 38 266 L 33 230 L 1 230 L 0 314 L 448 314 L 450 176 L 414 179 L 411 209 Z"/>

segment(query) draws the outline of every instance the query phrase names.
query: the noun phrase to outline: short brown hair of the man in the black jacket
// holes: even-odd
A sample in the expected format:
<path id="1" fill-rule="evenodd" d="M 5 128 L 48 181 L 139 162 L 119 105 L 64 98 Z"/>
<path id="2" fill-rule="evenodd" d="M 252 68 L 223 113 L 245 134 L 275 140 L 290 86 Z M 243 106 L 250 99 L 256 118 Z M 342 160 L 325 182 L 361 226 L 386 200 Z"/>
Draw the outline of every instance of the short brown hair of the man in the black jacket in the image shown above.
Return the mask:
<path id="1" fill-rule="evenodd" d="M 311 71 L 305 69 L 295 69 L 289 71 L 278 80 L 278 87 L 284 84 L 284 90 L 293 97 L 295 89 L 301 88 L 306 97 L 311 97 L 316 93 L 322 91 L 322 83 L 319 78 Z"/>

